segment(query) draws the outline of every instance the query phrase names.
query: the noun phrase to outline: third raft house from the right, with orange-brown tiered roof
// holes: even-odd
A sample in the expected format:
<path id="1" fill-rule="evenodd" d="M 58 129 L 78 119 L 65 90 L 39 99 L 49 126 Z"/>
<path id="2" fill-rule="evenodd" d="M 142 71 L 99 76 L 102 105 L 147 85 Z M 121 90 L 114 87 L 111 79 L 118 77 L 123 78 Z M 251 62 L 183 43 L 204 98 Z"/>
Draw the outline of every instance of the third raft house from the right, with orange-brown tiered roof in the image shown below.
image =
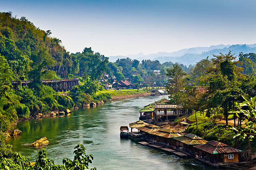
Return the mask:
<path id="1" fill-rule="evenodd" d="M 166 128 L 161 128 L 159 131 L 149 132 L 149 134 L 151 134 L 151 142 L 164 146 L 175 145 L 173 138 L 181 136 L 179 133 Z"/>

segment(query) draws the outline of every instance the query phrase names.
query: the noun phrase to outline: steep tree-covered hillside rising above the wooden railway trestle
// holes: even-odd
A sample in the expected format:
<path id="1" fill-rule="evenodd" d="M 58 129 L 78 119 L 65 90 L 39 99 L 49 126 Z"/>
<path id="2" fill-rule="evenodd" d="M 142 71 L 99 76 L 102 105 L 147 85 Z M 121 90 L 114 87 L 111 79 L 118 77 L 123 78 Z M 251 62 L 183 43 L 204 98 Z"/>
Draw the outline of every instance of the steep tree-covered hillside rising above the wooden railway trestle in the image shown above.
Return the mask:
<path id="1" fill-rule="evenodd" d="M 14 80 L 33 77 L 32 68 L 43 70 L 41 79 L 68 78 L 75 72 L 72 56 L 61 40 L 50 35 L 50 30 L 40 30 L 25 17 L 16 19 L 10 12 L 0 13 L 0 55 L 7 59 Z"/>

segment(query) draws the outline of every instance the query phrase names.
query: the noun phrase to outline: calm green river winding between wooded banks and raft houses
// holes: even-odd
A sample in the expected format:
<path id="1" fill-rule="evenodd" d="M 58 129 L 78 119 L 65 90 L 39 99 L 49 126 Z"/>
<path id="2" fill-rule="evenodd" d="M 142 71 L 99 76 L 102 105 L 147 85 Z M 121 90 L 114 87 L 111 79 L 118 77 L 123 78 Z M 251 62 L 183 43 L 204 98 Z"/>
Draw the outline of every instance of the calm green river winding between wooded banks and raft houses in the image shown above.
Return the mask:
<path id="1" fill-rule="evenodd" d="M 166 96 L 147 96 L 104 103 L 90 109 L 79 109 L 69 116 L 27 120 L 18 124 L 23 133 L 7 143 L 13 150 L 35 161 L 38 148 L 26 146 L 46 137 L 43 148 L 56 164 L 74 157 L 74 147 L 83 144 L 93 154 L 92 167 L 98 170 L 208 170 L 193 159 L 183 159 L 120 139 L 120 126 L 138 120 L 138 110 Z"/>

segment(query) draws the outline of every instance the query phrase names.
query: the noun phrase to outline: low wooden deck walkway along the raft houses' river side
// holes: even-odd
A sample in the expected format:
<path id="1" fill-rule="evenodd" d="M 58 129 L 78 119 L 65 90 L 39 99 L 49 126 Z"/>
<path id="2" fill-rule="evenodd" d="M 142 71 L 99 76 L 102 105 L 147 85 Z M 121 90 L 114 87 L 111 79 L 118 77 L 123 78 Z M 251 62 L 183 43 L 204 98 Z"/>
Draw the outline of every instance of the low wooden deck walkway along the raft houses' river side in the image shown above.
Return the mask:
<path id="1" fill-rule="evenodd" d="M 143 146 L 148 146 L 150 148 L 160 149 L 160 150 L 162 150 L 164 152 L 174 154 L 174 155 L 176 155 L 178 157 L 181 157 L 181 158 L 188 157 L 188 155 L 186 155 L 184 153 L 181 153 L 181 152 L 179 152 L 177 150 L 174 150 L 174 148 L 172 148 L 172 149 L 171 148 L 165 148 L 165 147 L 163 147 L 161 145 L 157 145 L 155 143 L 143 141 L 143 142 L 138 142 L 138 144 L 143 145 Z"/>

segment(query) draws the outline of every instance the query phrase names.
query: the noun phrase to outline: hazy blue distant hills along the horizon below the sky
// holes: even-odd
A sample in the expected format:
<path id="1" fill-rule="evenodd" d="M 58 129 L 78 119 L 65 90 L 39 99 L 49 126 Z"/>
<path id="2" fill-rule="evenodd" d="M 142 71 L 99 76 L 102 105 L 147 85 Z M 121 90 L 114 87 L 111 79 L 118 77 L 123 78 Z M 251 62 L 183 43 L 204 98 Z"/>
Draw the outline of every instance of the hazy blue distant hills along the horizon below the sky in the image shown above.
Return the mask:
<path id="1" fill-rule="evenodd" d="M 143 55 L 143 53 L 138 53 L 136 55 L 118 55 L 118 56 L 109 56 L 111 62 L 115 62 L 118 58 L 129 57 L 131 59 L 137 59 L 139 61 L 150 59 L 150 60 L 159 60 L 163 63 L 166 61 L 178 62 L 185 65 L 195 64 L 196 62 L 206 58 L 212 58 L 212 55 L 217 55 L 220 52 L 227 53 L 228 50 L 231 50 L 236 56 L 240 52 L 245 53 L 256 53 L 256 44 L 243 44 L 243 45 L 212 45 L 210 47 L 192 47 L 187 49 L 182 49 L 175 52 L 158 52 L 149 55 Z"/>

